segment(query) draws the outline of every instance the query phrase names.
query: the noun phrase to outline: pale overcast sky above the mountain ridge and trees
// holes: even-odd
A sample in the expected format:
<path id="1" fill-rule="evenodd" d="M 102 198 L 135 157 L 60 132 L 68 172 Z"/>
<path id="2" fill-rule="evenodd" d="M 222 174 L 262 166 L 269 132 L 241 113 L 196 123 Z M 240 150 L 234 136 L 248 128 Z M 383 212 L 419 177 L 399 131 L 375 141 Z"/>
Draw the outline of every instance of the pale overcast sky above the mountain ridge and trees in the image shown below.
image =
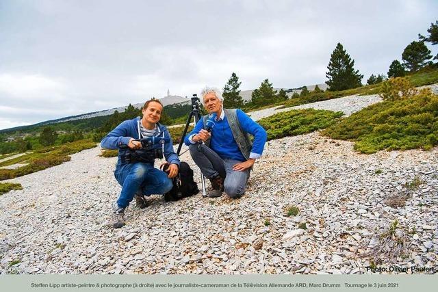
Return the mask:
<path id="1" fill-rule="evenodd" d="M 268 78 L 324 83 L 337 42 L 387 73 L 438 1 L 0 1 L 0 129 Z M 431 47 L 433 55 L 438 46 Z"/>

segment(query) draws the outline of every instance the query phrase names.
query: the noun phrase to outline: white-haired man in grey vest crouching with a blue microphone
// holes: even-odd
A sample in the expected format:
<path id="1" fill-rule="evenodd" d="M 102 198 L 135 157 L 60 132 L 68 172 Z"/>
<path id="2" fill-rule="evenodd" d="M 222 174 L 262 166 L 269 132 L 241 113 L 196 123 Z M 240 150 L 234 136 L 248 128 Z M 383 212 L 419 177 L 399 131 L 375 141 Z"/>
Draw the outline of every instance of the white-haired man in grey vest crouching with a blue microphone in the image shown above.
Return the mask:
<path id="1" fill-rule="evenodd" d="M 206 87 L 201 96 L 208 113 L 217 115 L 215 125 L 211 133 L 206 131 L 207 116 L 204 116 L 193 131 L 185 136 L 184 142 L 189 146 L 196 165 L 211 182 L 207 196 L 220 197 L 225 191 L 230 198 L 240 198 L 245 192 L 255 159 L 261 157 L 263 152 L 266 131 L 242 109 L 224 109 L 222 93 L 218 88 Z M 253 144 L 248 133 L 254 136 Z M 201 146 L 202 142 L 209 148 Z M 223 165 L 224 177 L 220 175 L 218 165 Z"/>

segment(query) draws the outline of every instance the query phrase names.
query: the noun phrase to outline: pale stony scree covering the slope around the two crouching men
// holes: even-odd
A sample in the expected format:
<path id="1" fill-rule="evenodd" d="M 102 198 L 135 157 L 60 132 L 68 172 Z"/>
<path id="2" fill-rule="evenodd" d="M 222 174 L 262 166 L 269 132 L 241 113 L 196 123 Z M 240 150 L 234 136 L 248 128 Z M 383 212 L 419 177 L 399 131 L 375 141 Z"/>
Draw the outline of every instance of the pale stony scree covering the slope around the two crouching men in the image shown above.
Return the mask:
<path id="1" fill-rule="evenodd" d="M 329 109 L 368 105 L 356 98 Z M 144 210 L 129 207 L 120 229 L 108 225 L 120 191 L 116 159 L 97 155 L 84 150 L 13 180 L 23 190 L 0 196 L 0 274 L 367 273 L 369 252 L 394 220 L 406 248 L 392 263 L 437 269 L 438 148 L 363 155 L 319 133 L 274 140 L 240 200 L 152 196 Z M 201 187 L 188 152 L 181 159 Z M 409 191 L 415 178 L 420 186 Z M 387 206 L 391 196 L 406 205 Z M 287 217 L 292 205 L 300 213 Z"/>

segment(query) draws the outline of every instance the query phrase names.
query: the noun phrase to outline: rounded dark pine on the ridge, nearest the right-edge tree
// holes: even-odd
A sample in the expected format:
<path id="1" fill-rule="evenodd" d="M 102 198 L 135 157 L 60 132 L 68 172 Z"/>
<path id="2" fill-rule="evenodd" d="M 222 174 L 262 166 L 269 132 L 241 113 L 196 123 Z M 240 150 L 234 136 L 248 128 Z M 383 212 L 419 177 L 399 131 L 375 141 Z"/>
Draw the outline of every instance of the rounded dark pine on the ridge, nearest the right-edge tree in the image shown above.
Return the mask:
<path id="1" fill-rule="evenodd" d="M 415 42 L 414 40 L 404 48 L 402 53 L 404 66 L 411 72 L 416 72 L 429 64 L 427 60 L 432 57 L 430 53 L 430 50 L 426 47 L 424 42 Z"/>

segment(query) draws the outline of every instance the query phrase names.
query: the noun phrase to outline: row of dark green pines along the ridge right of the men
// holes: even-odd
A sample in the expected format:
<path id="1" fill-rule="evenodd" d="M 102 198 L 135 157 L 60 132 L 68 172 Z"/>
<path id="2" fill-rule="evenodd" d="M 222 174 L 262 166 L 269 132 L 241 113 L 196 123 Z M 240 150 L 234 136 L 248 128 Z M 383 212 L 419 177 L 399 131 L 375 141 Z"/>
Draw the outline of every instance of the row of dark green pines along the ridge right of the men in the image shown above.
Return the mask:
<path id="1" fill-rule="evenodd" d="M 419 40 L 414 40 L 404 48 L 402 52 L 403 63 L 400 63 L 397 59 L 394 60 L 389 66 L 387 75 L 372 74 L 367 80 L 367 84 L 372 85 L 381 83 L 387 78 L 403 77 L 408 73 L 411 74 L 417 72 L 425 66 L 432 64 L 430 59 L 433 56 L 430 55 L 431 51 L 426 47 L 424 42 L 430 42 L 433 45 L 438 43 L 438 21 L 435 21 L 435 24 L 431 23 L 427 31 L 428 36 L 418 34 Z M 438 55 L 433 59 L 438 59 Z M 359 73 L 359 70 L 355 70 L 355 60 L 348 55 L 340 42 L 337 43 L 335 49 L 331 53 L 327 69 L 326 78 L 328 80 L 326 81 L 326 84 L 328 85 L 327 90 L 329 91 L 348 90 L 362 86 L 363 75 Z M 251 100 L 244 103 L 242 96 L 240 96 L 240 84 L 241 82 L 239 81 L 239 78 L 235 72 L 233 72 L 231 78 L 223 88 L 224 107 L 252 109 L 287 99 L 285 90 L 279 90 L 279 92 L 277 92 L 272 87 L 272 83 L 270 83 L 268 79 L 265 79 L 261 82 L 259 88 L 253 90 Z M 322 90 L 318 88 L 318 85 L 315 90 L 313 90 L 315 93 L 321 91 Z M 303 87 L 300 94 L 294 92 L 291 98 L 305 96 L 307 94 L 309 94 L 309 90 L 306 87 Z"/>

